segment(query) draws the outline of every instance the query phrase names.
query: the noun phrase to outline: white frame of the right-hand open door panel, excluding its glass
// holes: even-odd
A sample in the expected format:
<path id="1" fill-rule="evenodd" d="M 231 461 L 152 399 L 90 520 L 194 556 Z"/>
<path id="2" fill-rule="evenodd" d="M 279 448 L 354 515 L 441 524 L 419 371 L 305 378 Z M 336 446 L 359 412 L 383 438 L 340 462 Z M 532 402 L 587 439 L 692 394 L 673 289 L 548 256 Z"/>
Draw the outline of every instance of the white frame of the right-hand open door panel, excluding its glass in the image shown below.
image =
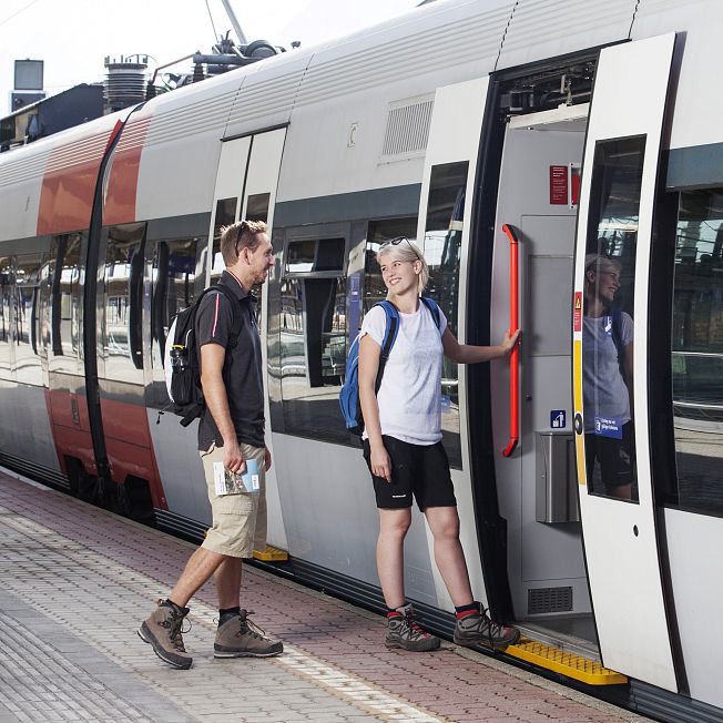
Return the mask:
<path id="1" fill-rule="evenodd" d="M 585 171 L 581 183 L 576 244 L 574 289 L 579 298 L 583 297 L 584 257 L 588 236 L 592 233 L 589 231 L 589 215 L 594 201 L 595 152 L 600 143 L 645 139 L 635 243 L 634 317 L 639 320 L 638 328 L 644 328 L 648 319 L 651 237 L 674 44 L 675 34 L 670 33 L 601 51 L 585 139 Z M 624 84 L 619 82 L 620 73 L 624 73 Z M 615 112 L 621 105 L 625 112 Z M 594 236 L 597 240 L 597 226 Z M 637 379 L 633 396 L 635 409 L 639 410 L 635 425 L 639 500 L 634 503 L 588 493 L 580 317 L 581 312 L 573 315 L 573 404 L 579 499 L 588 580 L 603 664 L 676 692 L 679 685 L 651 476 L 646 335 L 637 335 L 633 359 Z M 615 566 L 609 564 L 610 559 L 617 560 Z M 630 599 L 634 599 L 634 607 L 624 604 Z"/>

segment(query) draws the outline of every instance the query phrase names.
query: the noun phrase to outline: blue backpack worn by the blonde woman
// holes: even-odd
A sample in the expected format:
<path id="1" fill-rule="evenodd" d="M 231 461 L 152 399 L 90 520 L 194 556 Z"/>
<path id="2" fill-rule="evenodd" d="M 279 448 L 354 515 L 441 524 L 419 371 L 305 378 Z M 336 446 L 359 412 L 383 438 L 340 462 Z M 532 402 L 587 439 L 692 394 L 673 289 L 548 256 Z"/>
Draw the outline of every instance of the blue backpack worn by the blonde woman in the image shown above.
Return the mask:
<path id="1" fill-rule="evenodd" d="M 437 328 L 439 328 L 441 324 L 439 306 L 431 298 L 427 298 L 426 296 L 420 298 L 431 313 Z M 381 386 L 384 367 L 389 359 L 391 347 L 399 332 L 399 312 L 391 302 L 387 301 L 379 302 L 375 306 L 380 306 L 387 317 L 387 323 L 384 328 L 384 339 L 381 342 L 381 352 L 379 354 L 379 370 L 377 371 L 377 380 L 374 387 L 374 391 L 377 394 Z M 362 416 L 362 403 L 359 400 L 359 335 L 357 335 L 349 347 L 349 355 L 346 359 L 346 376 L 342 391 L 339 393 L 339 407 L 342 407 L 342 416 L 344 417 L 346 428 L 352 432 L 360 435 L 364 430 L 364 417 Z"/>

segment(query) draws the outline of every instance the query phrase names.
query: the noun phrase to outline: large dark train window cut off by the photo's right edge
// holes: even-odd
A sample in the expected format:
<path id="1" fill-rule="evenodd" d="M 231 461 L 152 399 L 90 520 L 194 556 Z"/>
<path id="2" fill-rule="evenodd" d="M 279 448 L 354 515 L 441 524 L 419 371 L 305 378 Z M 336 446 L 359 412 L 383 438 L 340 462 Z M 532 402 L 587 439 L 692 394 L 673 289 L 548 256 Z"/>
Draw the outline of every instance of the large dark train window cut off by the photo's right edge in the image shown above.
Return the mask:
<path id="1" fill-rule="evenodd" d="M 673 286 L 676 499 L 723 515 L 723 189 L 681 193 Z"/>

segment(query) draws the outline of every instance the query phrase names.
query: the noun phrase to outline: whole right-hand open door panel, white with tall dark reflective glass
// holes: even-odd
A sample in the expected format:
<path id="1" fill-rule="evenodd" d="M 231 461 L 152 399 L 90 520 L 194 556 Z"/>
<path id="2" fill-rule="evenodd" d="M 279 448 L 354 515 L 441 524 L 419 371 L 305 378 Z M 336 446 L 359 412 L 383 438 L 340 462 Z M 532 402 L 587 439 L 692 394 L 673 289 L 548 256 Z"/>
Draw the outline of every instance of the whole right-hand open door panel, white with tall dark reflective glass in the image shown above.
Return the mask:
<path id="1" fill-rule="evenodd" d="M 670 691 L 678 685 L 651 479 L 646 329 L 674 43 L 675 35 L 668 34 L 600 53 L 584 149 L 573 313 L 580 511 L 602 662 Z M 592 318 L 589 309 L 598 308 L 600 294 L 607 294 L 608 303 L 613 297 L 612 303 Z M 610 310 L 614 308 L 619 310 Z M 615 332 L 618 324 L 623 332 Z M 624 338 L 615 340 L 615 334 Z M 609 398 L 614 384 L 608 377 L 617 370 L 610 355 L 605 366 L 602 349 L 610 353 L 613 342 L 632 355 L 634 385 L 630 379 L 623 388 L 633 391 L 619 406 L 628 404 L 627 415 L 609 411 L 615 403 Z M 601 450 L 594 460 L 593 449 Z"/>

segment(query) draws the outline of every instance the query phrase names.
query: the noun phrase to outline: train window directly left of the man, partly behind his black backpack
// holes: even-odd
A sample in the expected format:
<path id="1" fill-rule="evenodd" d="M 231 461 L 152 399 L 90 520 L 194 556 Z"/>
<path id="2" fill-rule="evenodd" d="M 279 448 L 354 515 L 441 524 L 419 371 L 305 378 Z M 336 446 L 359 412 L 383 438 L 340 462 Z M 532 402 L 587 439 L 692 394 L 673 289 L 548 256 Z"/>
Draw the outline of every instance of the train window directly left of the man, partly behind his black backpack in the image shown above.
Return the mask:
<path id="1" fill-rule="evenodd" d="M 151 362 L 154 369 L 161 369 L 163 366 L 165 337 L 173 317 L 181 309 L 191 306 L 198 293 L 198 241 L 176 238 L 154 244 L 151 271 Z M 159 379 L 163 380 L 162 374 Z"/>

